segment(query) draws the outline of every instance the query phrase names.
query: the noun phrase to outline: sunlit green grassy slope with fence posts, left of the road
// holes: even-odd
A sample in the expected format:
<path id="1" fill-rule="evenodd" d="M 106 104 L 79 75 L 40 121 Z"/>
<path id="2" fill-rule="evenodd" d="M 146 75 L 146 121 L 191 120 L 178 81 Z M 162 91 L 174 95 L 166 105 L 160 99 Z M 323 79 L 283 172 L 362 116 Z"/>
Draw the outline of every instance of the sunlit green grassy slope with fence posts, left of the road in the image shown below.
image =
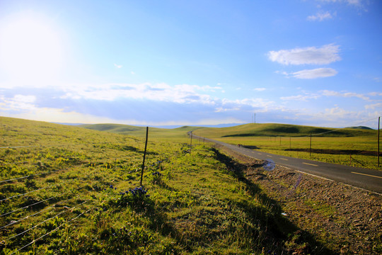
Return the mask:
<path id="1" fill-rule="evenodd" d="M 0 254 L 330 254 L 297 240 L 281 205 L 228 157 L 202 144 L 190 152 L 189 128 L 170 131 L 175 142 L 150 132 L 140 187 L 141 137 L 0 126 Z"/>

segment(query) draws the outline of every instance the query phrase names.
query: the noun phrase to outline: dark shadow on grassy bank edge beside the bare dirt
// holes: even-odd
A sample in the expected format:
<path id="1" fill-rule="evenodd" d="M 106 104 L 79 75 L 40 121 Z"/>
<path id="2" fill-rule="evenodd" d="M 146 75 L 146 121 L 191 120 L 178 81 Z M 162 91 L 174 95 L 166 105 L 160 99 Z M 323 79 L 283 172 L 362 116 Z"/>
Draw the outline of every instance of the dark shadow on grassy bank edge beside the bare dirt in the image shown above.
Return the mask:
<path id="1" fill-rule="evenodd" d="M 266 237 L 260 239 L 260 245 L 267 247 L 270 252 L 281 254 L 280 252 L 297 252 L 296 254 L 336 254 L 316 241 L 309 232 L 299 229 L 286 217 L 282 216 L 282 207 L 277 200 L 274 200 L 262 192 L 262 189 L 252 181 L 245 178 L 243 170 L 248 165 L 238 163 L 213 148 L 216 159 L 227 166 L 228 174 L 245 184 L 246 191 L 256 198 L 263 206 L 255 206 L 246 201 L 233 202 L 248 215 L 251 222 L 256 222 L 262 229 Z M 262 164 L 253 164 L 251 167 L 260 167 Z"/>

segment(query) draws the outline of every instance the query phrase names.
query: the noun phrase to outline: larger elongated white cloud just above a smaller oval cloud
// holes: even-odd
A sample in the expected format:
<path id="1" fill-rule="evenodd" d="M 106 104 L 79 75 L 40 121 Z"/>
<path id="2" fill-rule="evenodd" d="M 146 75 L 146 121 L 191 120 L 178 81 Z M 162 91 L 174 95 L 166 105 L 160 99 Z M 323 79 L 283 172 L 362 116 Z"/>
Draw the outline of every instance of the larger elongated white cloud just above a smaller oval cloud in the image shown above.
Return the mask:
<path id="1" fill-rule="evenodd" d="M 338 55 L 340 46 L 323 45 L 323 47 L 304 47 L 292 50 L 279 50 L 268 52 L 272 62 L 280 64 L 330 64 L 341 60 Z"/>

